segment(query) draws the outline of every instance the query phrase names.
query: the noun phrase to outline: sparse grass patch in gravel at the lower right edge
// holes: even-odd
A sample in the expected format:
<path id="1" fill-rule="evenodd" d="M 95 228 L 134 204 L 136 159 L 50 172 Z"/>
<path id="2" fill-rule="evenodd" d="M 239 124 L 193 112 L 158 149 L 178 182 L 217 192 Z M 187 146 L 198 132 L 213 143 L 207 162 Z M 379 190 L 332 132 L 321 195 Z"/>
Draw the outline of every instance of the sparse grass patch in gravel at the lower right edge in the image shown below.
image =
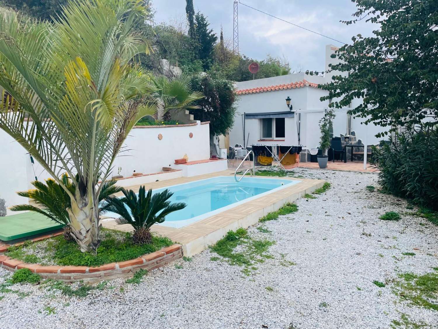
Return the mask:
<path id="1" fill-rule="evenodd" d="M 438 273 L 423 275 L 399 274 L 400 280 L 394 284 L 393 292 L 410 304 L 438 311 Z"/>

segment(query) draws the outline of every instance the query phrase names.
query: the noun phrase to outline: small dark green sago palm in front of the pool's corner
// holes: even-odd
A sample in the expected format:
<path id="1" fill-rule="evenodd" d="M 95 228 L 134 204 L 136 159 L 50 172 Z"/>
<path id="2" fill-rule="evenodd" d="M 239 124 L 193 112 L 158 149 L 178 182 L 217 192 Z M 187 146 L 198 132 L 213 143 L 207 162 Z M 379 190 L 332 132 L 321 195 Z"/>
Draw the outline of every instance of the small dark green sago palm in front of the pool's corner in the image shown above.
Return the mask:
<path id="1" fill-rule="evenodd" d="M 169 198 L 173 193 L 164 190 L 152 195 L 152 189 L 146 193 L 145 186 L 140 186 L 138 196 L 133 190 L 122 190 L 124 197 L 107 197 L 103 213 L 112 211 L 120 215 L 117 224 L 131 224 L 134 227 L 132 240 L 136 244 L 151 243 L 151 226 L 162 223 L 173 211 L 184 209 L 183 202 L 171 203 Z"/>

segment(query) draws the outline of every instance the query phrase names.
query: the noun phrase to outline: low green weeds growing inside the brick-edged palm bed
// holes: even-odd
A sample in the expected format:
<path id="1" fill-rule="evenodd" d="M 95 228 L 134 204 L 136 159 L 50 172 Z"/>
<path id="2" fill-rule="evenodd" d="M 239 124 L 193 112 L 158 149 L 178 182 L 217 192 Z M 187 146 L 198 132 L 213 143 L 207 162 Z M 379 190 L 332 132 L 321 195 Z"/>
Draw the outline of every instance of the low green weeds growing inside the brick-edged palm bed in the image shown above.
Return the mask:
<path id="1" fill-rule="evenodd" d="M 83 253 L 75 241 L 67 242 L 64 236 L 56 236 L 47 243 L 46 257 L 47 259 L 50 257 L 50 260 L 56 265 L 100 266 L 113 262 L 128 261 L 173 244 L 172 240 L 166 237 L 152 236 L 152 243 L 135 245 L 132 243 L 131 233 L 123 233 L 124 238 L 118 239 L 114 234 L 121 234 L 120 232 L 113 233 L 110 232 L 111 230 L 106 229 L 102 229 L 102 231 L 104 237 L 97 249 L 97 255 L 91 252 Z M 25 254 L 24 248 L 28 246 L 11 247 L 6 255 L 29 263 L 39 262 L 38 257 Z"/>

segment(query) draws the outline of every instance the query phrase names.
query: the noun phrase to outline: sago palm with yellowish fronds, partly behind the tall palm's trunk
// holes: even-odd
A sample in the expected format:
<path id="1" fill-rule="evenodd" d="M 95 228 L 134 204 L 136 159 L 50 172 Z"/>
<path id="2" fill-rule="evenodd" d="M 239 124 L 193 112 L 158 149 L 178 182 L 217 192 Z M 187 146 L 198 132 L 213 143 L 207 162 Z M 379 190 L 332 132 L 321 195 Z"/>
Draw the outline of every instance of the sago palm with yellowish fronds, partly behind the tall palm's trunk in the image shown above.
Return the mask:
<path id="1" fill-rule="evenodd" d="M 78 177 L 76 177 L 75 181 L 78 180 Z M 76 186 L 74 185 L 74 181 L 71 180 L 67 174 L 61 176 L 61 181 L 64 186 L 67 187 L 67 190 L 74 193 Z M 112 194 L 123 190 L 122 187 L 116 186 L 116 183 L 117 180 L 115 179 L 102 183 L 102 190 L 99 193 L 99 204 Z M 46 183 L 34 181 L 32 182 L 32 185 L 35 189 L 17 192 L 17 194 L 20 197 L 31 199 L 33 204 L 18 204 L 12 206 L 10 209 L 12 211 L 35 211 L 58 224 L 63 224 L 65 225 L 65 239 L 68 241 L 73 240 L 70 227 L 70 217 L 67 211 L 67 208 L 71 207 L 71 199 L 68 193 L 57 183 L 57 181 L 51 178 L 46 179 Z"/>

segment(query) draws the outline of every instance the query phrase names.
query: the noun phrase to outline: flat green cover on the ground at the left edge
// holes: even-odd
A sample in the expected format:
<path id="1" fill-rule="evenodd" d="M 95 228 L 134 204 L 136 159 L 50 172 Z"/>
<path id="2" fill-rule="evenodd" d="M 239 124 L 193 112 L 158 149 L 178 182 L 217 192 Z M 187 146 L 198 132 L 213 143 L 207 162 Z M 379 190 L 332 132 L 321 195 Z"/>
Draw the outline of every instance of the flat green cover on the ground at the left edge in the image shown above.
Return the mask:
<path id="1" fill-rule="evenodd" d="M 63 227 L 64 225 L 33 211 L 0 217 L 0 240 L 10 241 L 25 238 Z"/>

